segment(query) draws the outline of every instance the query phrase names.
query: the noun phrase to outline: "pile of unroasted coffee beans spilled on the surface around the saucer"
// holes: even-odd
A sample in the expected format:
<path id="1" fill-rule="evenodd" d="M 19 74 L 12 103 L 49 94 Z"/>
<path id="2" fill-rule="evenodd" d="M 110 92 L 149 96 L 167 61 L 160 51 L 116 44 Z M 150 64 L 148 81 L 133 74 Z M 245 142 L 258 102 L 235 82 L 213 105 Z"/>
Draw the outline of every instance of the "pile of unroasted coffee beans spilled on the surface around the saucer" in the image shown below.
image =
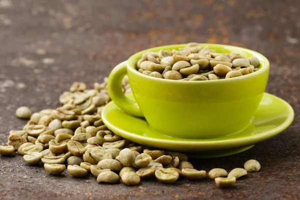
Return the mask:
<path id="1" fill-rule="evenodd" d="M 130 92 L 127 76 L 122 89 Z M 107 78 L 104 78 L 103 83 L 94 83 L 94 89 L 86 89 L 83 82 L 74 82 L 69 91 L 59 96 L 63 105 L 56 109 L 31 114 L 29 108 L 20 107 L 16 116 L 30 120 L 22 130 L 9 132 L 7 146 L 0 145 L 0 154 L 7 156 L 17 151 L 30 165 L 42 162 L 52 175 L 67 169 L 74 177 L 92 174 L 97 182 L 105 183 L 121 180 L 136 185 L 152 176 L 163 183 L 173 183 L 180 177 L 205 178 L 206 171 L 194 169 L 186 154 L 149 149 L 109 130 L 100 116 L 109 101 Z M 259 169 L 258 161 L 248 160 L 244 169 L 235 168 L 227 173 L 215 168 L 208 172 L 208 177 L 217 186 L 228 187 L 236 178 Z"/>

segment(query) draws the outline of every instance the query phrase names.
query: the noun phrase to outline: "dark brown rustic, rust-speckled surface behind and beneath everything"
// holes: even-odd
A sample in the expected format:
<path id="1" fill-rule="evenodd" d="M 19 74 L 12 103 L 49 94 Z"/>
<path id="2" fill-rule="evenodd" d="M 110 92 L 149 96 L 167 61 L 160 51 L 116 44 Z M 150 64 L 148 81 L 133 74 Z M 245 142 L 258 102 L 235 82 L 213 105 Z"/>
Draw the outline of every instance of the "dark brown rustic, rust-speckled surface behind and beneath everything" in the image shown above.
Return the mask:
<path id="1" fill-rule="evenodd" d="M 281 134 L 228 157 L 191 160 L 197 169 L 242 167 L 259 172 L 229 189 L 213 181 L 154 180 L 138 186 L 98 184 L 94 177 L 51 176 L 21 156 L 0 156 L 1 199 L 299 199 L 299 0 L 0 0 L 0 143 L 26 121 L 14 111 L 59 105 L 75 81 L 90 86 L 139 50 L 190 41 L 244 46 L 271 63 L 267 92 L 289 102 L 295 119 Z"/>

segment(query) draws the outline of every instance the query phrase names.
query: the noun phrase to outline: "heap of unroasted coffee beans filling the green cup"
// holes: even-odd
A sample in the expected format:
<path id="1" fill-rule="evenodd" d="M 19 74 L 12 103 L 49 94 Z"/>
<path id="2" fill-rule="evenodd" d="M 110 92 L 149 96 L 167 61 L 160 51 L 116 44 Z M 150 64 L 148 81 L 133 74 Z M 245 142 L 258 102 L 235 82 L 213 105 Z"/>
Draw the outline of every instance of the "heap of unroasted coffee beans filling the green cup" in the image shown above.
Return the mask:
<path id="1" fill-rule="evenodd" d="M 259 69 L 257 57 L 219 53 L 191 42 L 184 48 L 143 53 L 136 69 L 149 76 L 173 80 L 217 80 L 252 73 Z"/>

